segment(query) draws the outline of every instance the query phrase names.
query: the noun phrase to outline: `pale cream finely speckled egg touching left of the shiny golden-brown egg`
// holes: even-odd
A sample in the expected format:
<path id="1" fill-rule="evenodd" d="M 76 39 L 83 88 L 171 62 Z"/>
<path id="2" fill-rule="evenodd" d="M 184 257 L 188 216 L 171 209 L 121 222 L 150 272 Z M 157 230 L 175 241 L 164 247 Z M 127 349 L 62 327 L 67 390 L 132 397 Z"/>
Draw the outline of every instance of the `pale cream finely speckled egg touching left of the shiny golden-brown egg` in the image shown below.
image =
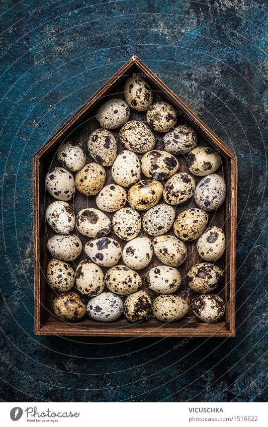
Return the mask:
<path id="1" fill-rule="evenodd" d="M 96 197 L 96 205 L 105 212 L 114 212 L 123 208 L 127 201 L 126 190 L 115 184 L 105 186 Z"/>

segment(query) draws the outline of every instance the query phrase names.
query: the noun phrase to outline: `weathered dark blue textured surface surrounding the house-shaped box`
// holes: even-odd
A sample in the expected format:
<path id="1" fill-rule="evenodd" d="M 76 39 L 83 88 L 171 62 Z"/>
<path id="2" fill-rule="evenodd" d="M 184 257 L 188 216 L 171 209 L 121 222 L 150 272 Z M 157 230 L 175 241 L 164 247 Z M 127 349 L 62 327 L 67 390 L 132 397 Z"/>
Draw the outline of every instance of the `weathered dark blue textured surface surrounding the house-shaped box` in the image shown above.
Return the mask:
<path id="1" fill-rule="evenodd" d="M 265 2 L 15 3 L 0 4 L 2 399 L 265 400 Z M 238 156 L 235 338 L 33 334 L 32 155 L 133 54 Z"/>

